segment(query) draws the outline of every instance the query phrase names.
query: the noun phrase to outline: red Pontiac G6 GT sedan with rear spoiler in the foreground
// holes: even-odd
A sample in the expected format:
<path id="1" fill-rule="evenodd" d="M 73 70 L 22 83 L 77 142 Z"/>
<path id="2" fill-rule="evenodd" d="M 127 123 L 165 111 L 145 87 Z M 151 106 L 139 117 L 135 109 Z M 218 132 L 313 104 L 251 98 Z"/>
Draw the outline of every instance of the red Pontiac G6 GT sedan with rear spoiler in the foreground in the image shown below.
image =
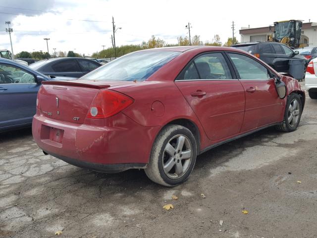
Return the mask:
<path id="1" fill-rule="evenodd" d="M 197 155 L 268 126 L 294 131 L 297 80 L 233 48 L 171 47 L 113 60 L 78 80 L 43 82 L 33 136 L 44 153 L 114 173 L 144 169 L 174 186 Z"/>

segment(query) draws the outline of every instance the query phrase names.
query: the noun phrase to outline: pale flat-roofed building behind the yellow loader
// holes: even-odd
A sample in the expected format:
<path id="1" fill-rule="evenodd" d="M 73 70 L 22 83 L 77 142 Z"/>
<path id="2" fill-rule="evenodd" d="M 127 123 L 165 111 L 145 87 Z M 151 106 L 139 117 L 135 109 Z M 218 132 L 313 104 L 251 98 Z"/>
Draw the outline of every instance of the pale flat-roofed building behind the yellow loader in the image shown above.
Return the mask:
<path id="1" fill-rule="evenodd" d="M 241 27 L 239 32 L 241 42 L 266 41 L 267 35 L 274 32 L 274 26 L 272 26 L 271 31 L 268 26 L 259 28 Z M 309 42 L 307 43 L 309 46 L 317 46 L 317 22 L 303 22 L 302 35 L 308 37 Z"/>

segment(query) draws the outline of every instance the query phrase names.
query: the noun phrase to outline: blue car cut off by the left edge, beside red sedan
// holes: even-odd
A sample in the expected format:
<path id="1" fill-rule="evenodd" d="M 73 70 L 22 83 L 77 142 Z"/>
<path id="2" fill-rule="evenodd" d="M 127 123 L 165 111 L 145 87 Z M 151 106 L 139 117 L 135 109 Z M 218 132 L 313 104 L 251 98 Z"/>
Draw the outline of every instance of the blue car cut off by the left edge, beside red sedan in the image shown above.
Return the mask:
<path id="1" fill-rule="evenodd" d="M 0 131 L 30 127 L 41 82 L 59 79 L 65 77 L 52 79 L 12 60 L 0 59 Z"/>

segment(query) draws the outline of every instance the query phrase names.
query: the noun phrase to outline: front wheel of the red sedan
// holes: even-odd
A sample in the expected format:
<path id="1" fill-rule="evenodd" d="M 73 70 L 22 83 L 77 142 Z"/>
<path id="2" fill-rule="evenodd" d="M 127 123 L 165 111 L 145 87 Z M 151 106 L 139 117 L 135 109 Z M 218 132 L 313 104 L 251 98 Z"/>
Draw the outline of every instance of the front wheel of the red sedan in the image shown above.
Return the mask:
<path id="1" fill-rule="evenodd" d="M 291 132 L 297 129 L 297 126 L 302 116 L 302 101 L 298 94 L 292 93 L 288 96 L 284 121 L 277 125 L 276 128 L 280 131 Z"/>

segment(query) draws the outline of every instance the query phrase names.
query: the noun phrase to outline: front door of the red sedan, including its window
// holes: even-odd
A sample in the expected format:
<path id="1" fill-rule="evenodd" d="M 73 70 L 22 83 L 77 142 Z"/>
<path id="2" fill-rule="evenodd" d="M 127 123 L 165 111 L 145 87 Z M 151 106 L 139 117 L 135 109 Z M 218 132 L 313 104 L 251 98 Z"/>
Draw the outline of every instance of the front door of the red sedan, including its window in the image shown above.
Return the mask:
<path id="1" fill-rule="evenodd" d="M 245 115 L 241 132 L 279 122 L 284 110 L 269 70 L 249 56 L 228 53 L 245 91 Z"/>

